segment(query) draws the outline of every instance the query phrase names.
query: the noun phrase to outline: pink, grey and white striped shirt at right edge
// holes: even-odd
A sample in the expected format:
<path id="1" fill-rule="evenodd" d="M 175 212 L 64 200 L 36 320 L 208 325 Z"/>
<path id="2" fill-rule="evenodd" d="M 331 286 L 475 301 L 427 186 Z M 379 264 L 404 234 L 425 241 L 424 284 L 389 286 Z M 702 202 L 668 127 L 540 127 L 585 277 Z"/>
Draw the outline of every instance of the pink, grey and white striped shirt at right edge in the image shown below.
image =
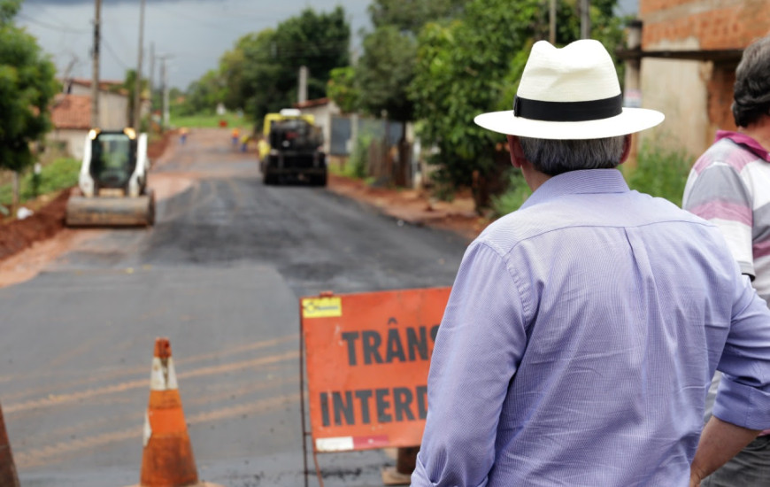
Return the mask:
<path id="1" fill-rule="evenodd" d="M 720 130 L 690 171 L 682 207 L 720 228 L 741 272 L 770 301 L 770 154 L 748 135 Z"/>

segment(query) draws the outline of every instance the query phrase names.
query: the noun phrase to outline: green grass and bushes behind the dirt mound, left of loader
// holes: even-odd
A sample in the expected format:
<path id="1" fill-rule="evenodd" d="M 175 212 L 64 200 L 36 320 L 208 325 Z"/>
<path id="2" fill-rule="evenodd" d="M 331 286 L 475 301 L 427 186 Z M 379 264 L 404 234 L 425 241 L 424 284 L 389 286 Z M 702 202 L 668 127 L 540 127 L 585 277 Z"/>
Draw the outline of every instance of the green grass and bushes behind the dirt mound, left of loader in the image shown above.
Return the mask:
<path id="1" fill-rule="evenodd" d="M 57 158 L 47 166 L 43 166 L 37 181 L 31 170 L 19 180 L 19 203 L 29 199 L 62 189 L 72 188 L 78 183 L 78 173 L 81 161 L 73 158 Z M 0 205 L 11 205 L 13 188 L 11 184 L 0 186 Z"/>

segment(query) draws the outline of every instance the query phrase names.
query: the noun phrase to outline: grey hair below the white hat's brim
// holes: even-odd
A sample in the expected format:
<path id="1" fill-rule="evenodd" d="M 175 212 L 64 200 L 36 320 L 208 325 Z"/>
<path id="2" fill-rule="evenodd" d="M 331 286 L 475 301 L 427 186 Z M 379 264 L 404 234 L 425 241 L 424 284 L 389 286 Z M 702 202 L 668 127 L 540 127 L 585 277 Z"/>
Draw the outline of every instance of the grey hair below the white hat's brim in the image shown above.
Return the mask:
<path id="1" fill-rule="evenodd" d="M 524 157 L 543 174 L 577 169 L 612 169 L 623 157 L 625 136 L 604 139 L 551 140 L 519 137 Z"/>

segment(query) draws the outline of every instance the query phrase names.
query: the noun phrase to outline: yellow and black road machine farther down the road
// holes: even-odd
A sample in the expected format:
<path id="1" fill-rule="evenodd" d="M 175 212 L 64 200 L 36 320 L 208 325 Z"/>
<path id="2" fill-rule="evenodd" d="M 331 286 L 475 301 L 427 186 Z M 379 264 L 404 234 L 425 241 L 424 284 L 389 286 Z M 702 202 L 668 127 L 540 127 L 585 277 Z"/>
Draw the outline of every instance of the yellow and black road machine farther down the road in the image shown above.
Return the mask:
<path id="1" fill-rule="evenodd" d="M 315 186 L 327 184 L 327 160 L 323 135 L 312 115 L 285 108 L 268 113 L 259 142 L 259 168 L 265 184 L 296 180 Z"/>

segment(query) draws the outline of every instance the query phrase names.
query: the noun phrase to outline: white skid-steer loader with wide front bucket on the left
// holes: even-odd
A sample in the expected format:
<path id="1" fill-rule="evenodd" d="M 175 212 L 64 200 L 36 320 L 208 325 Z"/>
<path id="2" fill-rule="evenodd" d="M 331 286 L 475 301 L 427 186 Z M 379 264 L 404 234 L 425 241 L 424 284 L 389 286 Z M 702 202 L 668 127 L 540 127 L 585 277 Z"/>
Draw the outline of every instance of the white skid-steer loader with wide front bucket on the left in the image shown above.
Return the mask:
<path id="1" fill-rule="evenodd" d="M 86 136 L 78 187 L 66 206 L 70 227 L 145 227 L 155 223 L 155 198 L 147 187 L 147 134 L 132 128 Z"/>

